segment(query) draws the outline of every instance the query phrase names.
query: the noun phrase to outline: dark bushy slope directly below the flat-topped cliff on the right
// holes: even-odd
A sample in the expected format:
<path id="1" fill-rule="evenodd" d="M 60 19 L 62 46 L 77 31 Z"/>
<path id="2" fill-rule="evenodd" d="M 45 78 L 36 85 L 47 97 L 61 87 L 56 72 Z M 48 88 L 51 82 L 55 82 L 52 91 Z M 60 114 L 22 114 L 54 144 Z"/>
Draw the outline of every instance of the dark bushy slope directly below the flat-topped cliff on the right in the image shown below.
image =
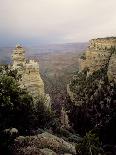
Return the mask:
<path id="1" fill-rule="evenodd" d="M 107 66 L 89 76 L 79 72 L 70 88 L 75 94 L 69 113 L 73 128 L 81 135 L 94 130 L 103 144 L 116 143 L 116 84 L 108 81 Z"/>

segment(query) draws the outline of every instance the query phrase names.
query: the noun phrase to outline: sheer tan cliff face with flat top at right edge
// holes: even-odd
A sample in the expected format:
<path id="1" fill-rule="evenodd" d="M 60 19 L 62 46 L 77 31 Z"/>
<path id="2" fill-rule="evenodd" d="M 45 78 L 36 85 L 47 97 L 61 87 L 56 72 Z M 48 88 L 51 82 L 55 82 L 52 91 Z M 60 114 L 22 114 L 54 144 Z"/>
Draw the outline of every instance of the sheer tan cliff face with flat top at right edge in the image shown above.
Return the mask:
<path id="1" fill-rule="evenodd" d="M 115 77 L 116 69 L 116 38 L 92 39 L 85 51 L 84 59 L 80 58 L 80 71 L 89 69 L 88 74 L 94 71 L 108 67 L 109 78 Z"/>

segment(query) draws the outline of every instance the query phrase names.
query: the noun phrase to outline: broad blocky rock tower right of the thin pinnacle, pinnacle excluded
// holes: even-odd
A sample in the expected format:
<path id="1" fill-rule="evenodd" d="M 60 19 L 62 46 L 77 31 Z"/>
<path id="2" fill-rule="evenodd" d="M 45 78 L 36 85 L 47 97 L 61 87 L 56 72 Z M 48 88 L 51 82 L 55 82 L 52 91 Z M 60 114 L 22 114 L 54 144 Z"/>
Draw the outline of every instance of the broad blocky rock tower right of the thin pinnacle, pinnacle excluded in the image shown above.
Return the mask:
<path id="1" fill-rule="evenodd" d="M 22 74 L 21 86 L 28 88 L 34 96 L 44 96 L 44 82 L 39 73 L 39 64 L 34 60 L 25 63 L 24 73 Z"/>

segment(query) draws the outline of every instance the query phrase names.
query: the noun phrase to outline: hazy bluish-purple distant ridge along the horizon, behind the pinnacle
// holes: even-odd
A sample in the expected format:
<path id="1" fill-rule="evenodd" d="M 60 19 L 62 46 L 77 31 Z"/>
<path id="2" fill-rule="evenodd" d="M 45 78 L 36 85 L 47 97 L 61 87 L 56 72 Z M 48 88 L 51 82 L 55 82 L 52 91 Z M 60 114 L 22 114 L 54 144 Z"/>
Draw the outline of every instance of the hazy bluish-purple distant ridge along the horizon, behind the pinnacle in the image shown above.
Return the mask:
<path id="1" fill-rule="evenodd" d="M 64 43 L 64 44 L 46 44 L 38 46 L 26 46 L 28 56 L 34 56 L 41 53 L 52 52 L 82 52 L 88 46 L 88 43 Z M 0 47 L 0 63 L 10 63 L 10 56 L 13 47 Z"/>

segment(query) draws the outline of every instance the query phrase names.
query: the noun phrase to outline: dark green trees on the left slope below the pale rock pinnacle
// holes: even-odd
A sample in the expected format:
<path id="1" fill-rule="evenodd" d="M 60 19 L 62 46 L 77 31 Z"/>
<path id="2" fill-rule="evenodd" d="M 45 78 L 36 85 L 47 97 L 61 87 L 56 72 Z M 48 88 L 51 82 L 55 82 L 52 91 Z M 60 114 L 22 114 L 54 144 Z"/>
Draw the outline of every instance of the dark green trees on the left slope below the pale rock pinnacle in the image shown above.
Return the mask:
<path id="1" fill-rule="evenodd" d="M 37 100 L 35 103 L 32 96 L 19 87 L 18 78 L 15 70 L 11 71 L 8 66 L 1 66 L 0 150 L 8 150 L 6 147 L 13 141 L 11 135 L 6 132 L 12 128 L 20 135 L 30 135 L 38 128 L 54 129 L 58 126 L 54 113 L 44 106 L 44 100 Z"/>

